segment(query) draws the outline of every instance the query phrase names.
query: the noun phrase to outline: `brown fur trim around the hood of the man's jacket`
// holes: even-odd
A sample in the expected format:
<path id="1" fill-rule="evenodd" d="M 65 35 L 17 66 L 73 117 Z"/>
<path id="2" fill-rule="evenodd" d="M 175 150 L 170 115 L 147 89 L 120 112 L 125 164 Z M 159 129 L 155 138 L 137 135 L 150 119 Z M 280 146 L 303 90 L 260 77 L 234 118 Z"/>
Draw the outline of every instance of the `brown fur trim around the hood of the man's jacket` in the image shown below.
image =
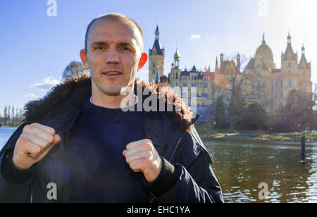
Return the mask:
<path id="1" fill-rule="evenodd" d="M 182 131 L 191 130 L 194 122 L 199 118 L 199 115 L 193 113 L 167 84 L 147 84 L 144 81 L 138 82 L 138 80 L 135 80 L 136 95 L 138 89 L 142 89 L 142 92 L 144 89 L 149 89 L 149 95 L 156 94 L 158 105 L 161 97 L 165 98 L 166 107 L 170 103 L 168 99 L 173 99 L 173 111 L 164 111 L 163 113 L 166 113 L 170 120 Z M 28 102 L 25 105 L 23 123 L 39 122 L 42 118 L 48 116 L 49 113 L 63 113 L 63 111 L 72 107 L 80 106 L 81 102 L 91 96 L 91 94 L 91 77 L 87 75 L 72 77 L 60 85 L 56 85 L 42 99 Z M 143 96 L 142 100 L 144 101 L 147 97 L 149 96 Z M 180 108 L 180 111 L 175 111 L 175 108 Z M 193 116 L 195 118 L 192 118 Z"/>

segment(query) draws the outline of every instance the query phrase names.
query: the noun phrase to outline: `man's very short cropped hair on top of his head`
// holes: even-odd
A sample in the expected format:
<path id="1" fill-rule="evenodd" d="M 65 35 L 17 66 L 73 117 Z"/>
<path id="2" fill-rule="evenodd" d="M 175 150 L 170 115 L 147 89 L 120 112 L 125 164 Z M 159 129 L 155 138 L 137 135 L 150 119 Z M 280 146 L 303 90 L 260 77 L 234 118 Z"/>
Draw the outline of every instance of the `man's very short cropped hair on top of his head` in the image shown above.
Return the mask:
<path id="1" fill-rule="evenodd" d="M 90 27 L 92 27 L 92 24 L 94 24 L 97 20 L 102 19 L 102 20 L 113 20 L 113 21 L 119 21 L 125 24 L 128 23 L 133 23 L 137 29 L 139 30 L 139 33 L 141 35 L 141 42 L 139 42 L 139 45 L 141 47 L 141 51 L 143 51 L 143 32 L 141 30 L 141 27 L 135 22 L 135 20 L 132 20 L 131 18 L 128 18 L 127 16 L 124 16 L 121 13 L 107 13 L 105 15 L 101 15 L 98 18 L 94 18 L 88 25 L 86 34 L 85 34 L 85 51 L 87 52 L 87 39 L 88 39 L 88 34 Z"/>

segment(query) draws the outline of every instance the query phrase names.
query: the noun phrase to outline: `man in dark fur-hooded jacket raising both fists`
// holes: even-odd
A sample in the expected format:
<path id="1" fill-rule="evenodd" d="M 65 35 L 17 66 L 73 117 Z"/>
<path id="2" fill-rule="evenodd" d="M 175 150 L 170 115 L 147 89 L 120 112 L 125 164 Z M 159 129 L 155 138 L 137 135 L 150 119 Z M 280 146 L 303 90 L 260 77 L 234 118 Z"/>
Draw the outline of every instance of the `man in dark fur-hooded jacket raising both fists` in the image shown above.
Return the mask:
<path id="1" fill-rule="evenodd" d="M 223 202 L 182 102 L 180 111 L 123 111 L 144 101 L 123 103 L 128 88 L 164 89 L 135 80 L 147 62 L 142 50 L 135 21 L 118 13 L 92 20 L 80 51 L 91 78 L 27 104 L 1 151 L 1 202 Z"/>

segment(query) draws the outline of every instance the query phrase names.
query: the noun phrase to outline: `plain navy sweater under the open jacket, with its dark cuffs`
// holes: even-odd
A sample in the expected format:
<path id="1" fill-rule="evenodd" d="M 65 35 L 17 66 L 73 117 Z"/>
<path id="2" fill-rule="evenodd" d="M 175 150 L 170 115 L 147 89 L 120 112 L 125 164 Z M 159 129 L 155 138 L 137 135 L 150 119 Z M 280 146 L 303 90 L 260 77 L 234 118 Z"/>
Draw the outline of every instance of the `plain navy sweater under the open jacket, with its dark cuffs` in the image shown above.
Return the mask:
<path id="1" fill-rule="evenodd" d="M 69 177 L 64 202 L 149 202 L 150 191 L 156 197 L 168 192 L 179 171 L 165 159 L 159 177 L 148 183 L 142 172 L 132 171 L 123 156 L 125 146 L 144 139 L 142 112 L 124 112 L 93 105 L 89 99 L 82 104 L 66 147 Z M 25 182 L 35 171 L 14 168 L 13 151 L 6 154 L 1 173 L 8 182 Z"/>

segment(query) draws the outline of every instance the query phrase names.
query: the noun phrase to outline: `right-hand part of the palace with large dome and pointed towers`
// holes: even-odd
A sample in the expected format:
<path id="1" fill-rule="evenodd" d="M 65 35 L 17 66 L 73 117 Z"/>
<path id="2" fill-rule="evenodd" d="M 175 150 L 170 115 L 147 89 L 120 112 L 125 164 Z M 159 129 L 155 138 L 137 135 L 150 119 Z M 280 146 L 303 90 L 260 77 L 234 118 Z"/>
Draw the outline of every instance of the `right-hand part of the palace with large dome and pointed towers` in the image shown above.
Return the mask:
<path id="1" fill-rule="evenodd" d="M 302 56 L 292 49 L 290 34 L 287 36 L 287 47 L 281 55 L 281 68 L 275 68 L 271 48 L 262 39 L 262 44 L 256 49 L 243 73 L 254 73 L 256 79 L 251 81 L 250 94 L 254 101 L 263 104 L 268 113 L 275 113 L 287 103 L 287 97 L 292 89 L 311 93 L 311 63 L 306 61 L 304 44 Z"/>

